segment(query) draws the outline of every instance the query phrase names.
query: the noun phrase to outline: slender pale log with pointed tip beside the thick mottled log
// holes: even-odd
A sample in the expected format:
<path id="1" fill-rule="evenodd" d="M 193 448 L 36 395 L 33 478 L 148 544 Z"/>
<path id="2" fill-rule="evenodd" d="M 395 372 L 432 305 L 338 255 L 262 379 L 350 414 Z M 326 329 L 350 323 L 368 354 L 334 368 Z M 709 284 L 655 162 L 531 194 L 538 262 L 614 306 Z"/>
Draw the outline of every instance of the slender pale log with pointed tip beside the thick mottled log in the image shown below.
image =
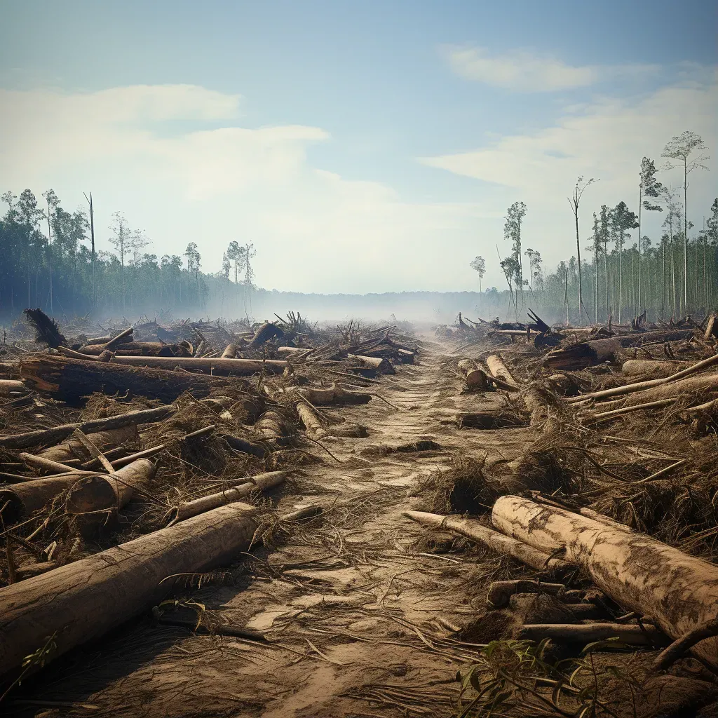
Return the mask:
<path id="1" fill-rule="evenodd" d="M 528 544 L 510 538 L 503 533 L 494 531 L 493 528 L 483 526 L 478 521 L 470 518 L 459 518 L 458 516 L 439 516 L 438 513 L 426 513 L 426 511 L 404 511 L 406 518 L 421 523 L 423 526 L 434 529 L 434 531 L 452 531 L 476 541 L 482 546 L 495 551 L 503 556 L 511 556 L 522 564 L 530 566 L 537 571 L 566 570 L 571 566 L 561 559 L 551 559 L 551 556 L 544 551 L 536 551 Z"/>

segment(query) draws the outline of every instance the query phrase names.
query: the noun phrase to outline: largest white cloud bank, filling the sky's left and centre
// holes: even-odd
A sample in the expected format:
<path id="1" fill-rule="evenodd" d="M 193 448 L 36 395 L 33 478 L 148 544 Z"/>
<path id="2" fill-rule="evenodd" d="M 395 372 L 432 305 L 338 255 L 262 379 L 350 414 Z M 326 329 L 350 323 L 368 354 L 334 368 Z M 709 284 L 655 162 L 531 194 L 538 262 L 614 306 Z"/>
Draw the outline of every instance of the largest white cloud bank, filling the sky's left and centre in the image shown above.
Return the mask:
<path id="1" fill-rule="evenodd" d="M 240 101 L 190 85 L 0 90 L 9 108 L 0 115 L 2 191 L 31 187 L 39 196 L 52 187 L 72 209 L 92 190 L 100 248 L 109 248 L 111 213 L 122 210 L 158 255 L 196 241 L 207 271 L 219 269 L 230 241 L 251 241 L 263 286 L 452 288 L 477 205 L 412 204 L 381 183 L 317 169 L 307 148 L 327 131 L 238 126 Z M 472 286 L 471 270 L 465 275 Z"/>

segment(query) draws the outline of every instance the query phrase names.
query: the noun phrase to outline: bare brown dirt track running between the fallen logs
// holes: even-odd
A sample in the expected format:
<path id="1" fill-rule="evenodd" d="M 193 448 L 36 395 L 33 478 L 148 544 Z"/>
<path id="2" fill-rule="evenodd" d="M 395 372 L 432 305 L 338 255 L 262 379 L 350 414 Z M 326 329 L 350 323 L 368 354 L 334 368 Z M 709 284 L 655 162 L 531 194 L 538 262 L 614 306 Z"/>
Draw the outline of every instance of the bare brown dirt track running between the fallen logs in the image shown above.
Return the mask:
<path id="1" fill-rule="evenodd" d="M 268 537 L 231 581 L 178 594 L 246 636 L 194 635 L 148 614 L 26 681 L 11 713 L 67 714 L 49 702 L 67 701 L 87 706 L 70 714 L 150 718 L 452 715 L 457 671 L 510 631 L 510 615 L 486 607 L 505 562 L 402 512 L 429 508 L 411 489 L 452 457 L 486 457 L 490 470 L 518 456 L 531 430 L 457 429 L 457 415 L 501 400 L 462 393 L 448 352 L 426 341 L 415 365 L 372 387 L 393 406 L 330 410 L 368 426 L 368 438 L 323 439 L 335 458 L 316 447 L 322 462 L 279 498 L 284 512 L 332 507 L 325 518 Z M 441 448 L 388 450 L 419 441 Z"/>

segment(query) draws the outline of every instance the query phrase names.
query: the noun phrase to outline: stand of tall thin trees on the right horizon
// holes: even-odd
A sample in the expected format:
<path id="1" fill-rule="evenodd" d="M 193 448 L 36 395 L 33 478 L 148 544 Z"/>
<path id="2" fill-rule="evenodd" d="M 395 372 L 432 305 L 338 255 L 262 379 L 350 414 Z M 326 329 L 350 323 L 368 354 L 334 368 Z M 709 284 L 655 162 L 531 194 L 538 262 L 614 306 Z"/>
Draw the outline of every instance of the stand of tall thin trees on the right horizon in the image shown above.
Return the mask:
<path id="1" fill-rule="evenodd" d="M 696 229 L 688 219 L 689 174 L 708 169 L 709 157 L 701 137 L 686 131 L 674 136 L 663 148 L 664 169 L 681 169 L 683 183 L 668 187 L 658 181 L 656 162 L 643 157 L 638 171 L 638 213 L 625 201 L 615 207 L 603 204 L 593 212 L 592 232 L 584 241 L 579 218 L 584 192 L 598 182 L 579 177 L 568 198 L 574 217 L 576 253 L 559 262 L 544 276 L 541 253 L 526 248 L 522 253 L 522 225 L 527 208 L 514 202 L 506 213 L 504 239 L 511 251 L 499 264 L 506 280 L 508 307 L 518 317 L 519 304 L 528 294 L 535 307 L 548 317 L 565 322 L 622 322 L 646 312 L 651 319 L 677 319 L 686 314 L 704 314 L 718 307 L 718 198 L 704 226 Z M 706 208 L 707 209 L 707 208 Z M 645 213 L 663 213 L 660 238 L 643 233 Z M 633 230 L 638 230 L 633 233 Z M 691 230 L 694 232 L 691 235 Z M 498 252 L 498 245 L 497 245 Z M 481 281 L 486 262 L 477 256 L 470 263 Z M 528 276 L 526 276 L 528 275 Z M 495 287 L 482 297 L 477 309 L 496 309 L 506 304 Z"/>

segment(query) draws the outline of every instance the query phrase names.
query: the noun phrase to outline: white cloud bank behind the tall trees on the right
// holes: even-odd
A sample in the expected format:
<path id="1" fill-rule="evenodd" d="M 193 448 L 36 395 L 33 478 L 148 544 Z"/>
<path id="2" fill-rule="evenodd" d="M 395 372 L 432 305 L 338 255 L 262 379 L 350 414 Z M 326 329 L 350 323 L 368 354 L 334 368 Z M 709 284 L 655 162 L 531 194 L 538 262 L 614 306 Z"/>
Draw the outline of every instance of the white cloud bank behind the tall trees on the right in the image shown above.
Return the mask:
<path id="1" fill-rule="evenodd" d="M 573 217 L 566 197 L 577 177 L 600 179 L 584 195 L 582 234 L 587 235 L 589 217 L 600 205 L 613 206 L 624 200 L 636 210 L 641 158 L 656 159 L 656 167 L 663 167 L 661 151 L 673 135 L 686 129 L 697 132 L 709 147 L 708 154 L 715 157 L 718 71 L 713 68 L 705 74 L 709 82 L 702 85 L 691 82 L 666 87 L 638 101 L 597 98 L 587 105 L 567 108 L 554 126 L 535 134 L 505 136 L 481 149 L 420 161 L 493 183 L 497 199 L 490 208 L 496 211 L 505 211 L 514 200 L 525 201 L 526 246 L 537 248 L 549 265 L 554 264 L 575 252 Z M 708 166 L 711 172 L 691 174 L 689 219 L 696 228 L 700 228 L 717 194 L 714 159 Z M 676 170 L 660 172 L 659 179 L 673 186 L 683 181 Z M 651 213 L 643 231 L 657 240 L 660 223 L 661 216 Z M 500 238 L 498 223 L 492 232 Z M 493 244 L 488 247 L 493 249 Z M 490 249 L 485 251 L 493 255 Z"/>

